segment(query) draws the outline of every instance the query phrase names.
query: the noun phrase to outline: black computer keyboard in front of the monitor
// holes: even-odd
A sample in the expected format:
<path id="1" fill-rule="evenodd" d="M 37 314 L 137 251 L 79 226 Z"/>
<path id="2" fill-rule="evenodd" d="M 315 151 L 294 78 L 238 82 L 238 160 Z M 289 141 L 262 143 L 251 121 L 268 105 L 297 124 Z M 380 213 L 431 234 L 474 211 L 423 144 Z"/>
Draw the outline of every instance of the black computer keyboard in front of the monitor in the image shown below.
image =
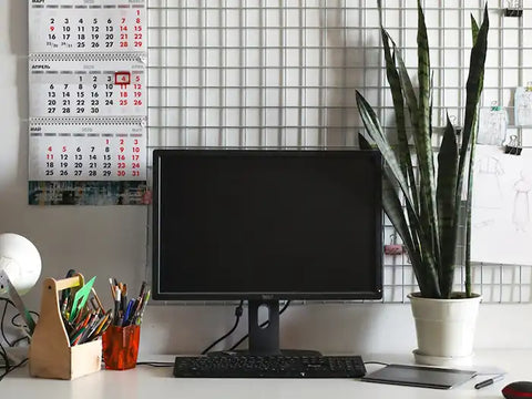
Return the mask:
<path id="1" fill-rule="evenodd" d="M 175 377 L 190 378 L 360 378 L 366 375 L 360 356 L 176 357 Z"/>

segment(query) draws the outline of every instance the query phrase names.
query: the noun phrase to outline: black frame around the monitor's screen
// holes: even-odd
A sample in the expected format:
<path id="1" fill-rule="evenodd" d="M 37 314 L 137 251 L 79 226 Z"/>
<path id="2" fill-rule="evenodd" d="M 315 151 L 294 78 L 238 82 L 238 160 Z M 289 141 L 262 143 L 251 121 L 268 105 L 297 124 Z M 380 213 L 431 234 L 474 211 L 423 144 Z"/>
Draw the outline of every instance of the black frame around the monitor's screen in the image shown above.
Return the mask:
<path id="1" fill-rule="evenodd" d="M 160 221 L 160 172 L 161 160 L 163 156 L 346 156 L 348 153 L 357 153 L 357 156 L 367 156 L 369 162 L 374 162 L 374 172 L 377 174 L 377 187 L 375 191 L 375 201 L 380 206 L 375 207 L 375 280 L 374 289 L 367 291 L 180 291 L 162 293 L 158 286 L 158 221 Z M 378 151 L 366 150 L 263 150 L 263 149 L 243 149 L 243 150 L 212 150 L 212 149 L 156 149 L 153 151 L 153 202 L 152 202 L 152 288 L 153 299 L 155 300 L 379 300 L 382 299 L 382 157 Z"/>

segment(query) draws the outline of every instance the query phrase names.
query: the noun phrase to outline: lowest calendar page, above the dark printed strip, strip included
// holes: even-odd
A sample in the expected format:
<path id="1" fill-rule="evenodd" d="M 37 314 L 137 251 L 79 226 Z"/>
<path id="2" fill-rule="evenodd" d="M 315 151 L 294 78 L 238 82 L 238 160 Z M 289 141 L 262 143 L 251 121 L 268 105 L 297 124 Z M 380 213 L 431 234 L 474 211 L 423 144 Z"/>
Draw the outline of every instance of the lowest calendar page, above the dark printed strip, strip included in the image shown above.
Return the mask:
<path id="1" fill-rule="evenodd" d="M 144 120 L 33 120 L 30 204 L 142 204 Z"/>

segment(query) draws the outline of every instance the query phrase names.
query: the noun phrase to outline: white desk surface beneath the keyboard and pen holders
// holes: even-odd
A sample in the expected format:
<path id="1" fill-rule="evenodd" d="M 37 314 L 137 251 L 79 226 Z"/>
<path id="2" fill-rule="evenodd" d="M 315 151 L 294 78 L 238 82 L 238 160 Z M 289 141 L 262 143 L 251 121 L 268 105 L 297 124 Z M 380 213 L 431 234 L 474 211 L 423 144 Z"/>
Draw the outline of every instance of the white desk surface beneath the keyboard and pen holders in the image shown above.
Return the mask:
<path id="1" fill-rule="evenodd" d="M 171 356 L 139 360 L 172 361 Z M 411 355 L 364 356 L 378 360 L 412 364 Z M 502 381 L 480 390 L 474 385 L 490 376 L 479 376 L 451 390 L 389 386 L 354 379 L 182 379 L 172 377 L 172 368 L 137 366 L 126 371 L 101 370 L 73 381 L 29 377 L 28 367 L 14 370 L 0 381 L 1 398 L 75 398 L 75 399 L 416 399 L 416 398 L 502 398 L 501 389 L 512 381 L 532 380 L 532 350 L 478 351 L 472 369 L 500 368 L 508 372 Z M 381 366 L 368 365 L 368 371 Z M 463 367 L 462 367 L 463 368 Z"/>

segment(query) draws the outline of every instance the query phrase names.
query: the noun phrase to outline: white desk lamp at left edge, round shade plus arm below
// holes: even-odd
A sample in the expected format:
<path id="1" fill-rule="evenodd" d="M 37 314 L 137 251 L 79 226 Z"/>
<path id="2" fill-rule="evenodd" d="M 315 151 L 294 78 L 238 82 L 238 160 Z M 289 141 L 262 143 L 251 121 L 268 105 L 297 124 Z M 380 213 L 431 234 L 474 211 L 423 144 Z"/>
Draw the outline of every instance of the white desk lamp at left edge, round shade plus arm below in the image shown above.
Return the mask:
<path id="1" fill-rule="evenodd" d="M 35 321 L 20 298 L 33 287 L 41 274 L 41 256 L 35 246 L 18 234 L 0 234 L 0 295 L 8 294 L 31 337 Z"/>

